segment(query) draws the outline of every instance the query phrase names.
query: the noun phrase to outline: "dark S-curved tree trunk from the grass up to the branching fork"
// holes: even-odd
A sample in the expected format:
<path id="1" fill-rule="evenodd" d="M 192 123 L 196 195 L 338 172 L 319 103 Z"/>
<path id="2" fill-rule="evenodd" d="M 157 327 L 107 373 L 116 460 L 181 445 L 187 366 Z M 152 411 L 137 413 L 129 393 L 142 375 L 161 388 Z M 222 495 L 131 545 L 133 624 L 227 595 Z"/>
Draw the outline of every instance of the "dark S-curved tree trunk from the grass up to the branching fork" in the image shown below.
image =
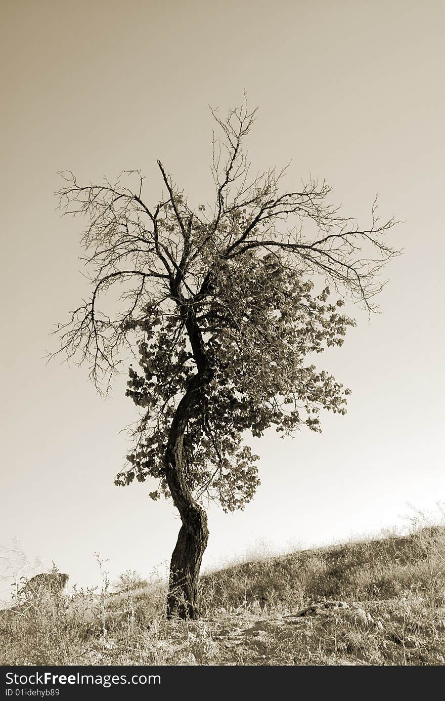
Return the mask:
<path id="1" fill-rule="evenodd" d="M 200 329 L 193 316 L 186 321 L 186 328 L 198 372 L 191 378 L 189 387 L 178 404 L 170 426 L 165 454 L 165 479 L 182 520 L 170 562 L 167 616 L 198 618 L 198 577 L 209 531 L 207 515 L 193 499 L 186 482 L 182 449 L 187 423 L 196 413 L 197 405 L 205 387 L 212 380 L 213 373 L 205 355 Z"/>

